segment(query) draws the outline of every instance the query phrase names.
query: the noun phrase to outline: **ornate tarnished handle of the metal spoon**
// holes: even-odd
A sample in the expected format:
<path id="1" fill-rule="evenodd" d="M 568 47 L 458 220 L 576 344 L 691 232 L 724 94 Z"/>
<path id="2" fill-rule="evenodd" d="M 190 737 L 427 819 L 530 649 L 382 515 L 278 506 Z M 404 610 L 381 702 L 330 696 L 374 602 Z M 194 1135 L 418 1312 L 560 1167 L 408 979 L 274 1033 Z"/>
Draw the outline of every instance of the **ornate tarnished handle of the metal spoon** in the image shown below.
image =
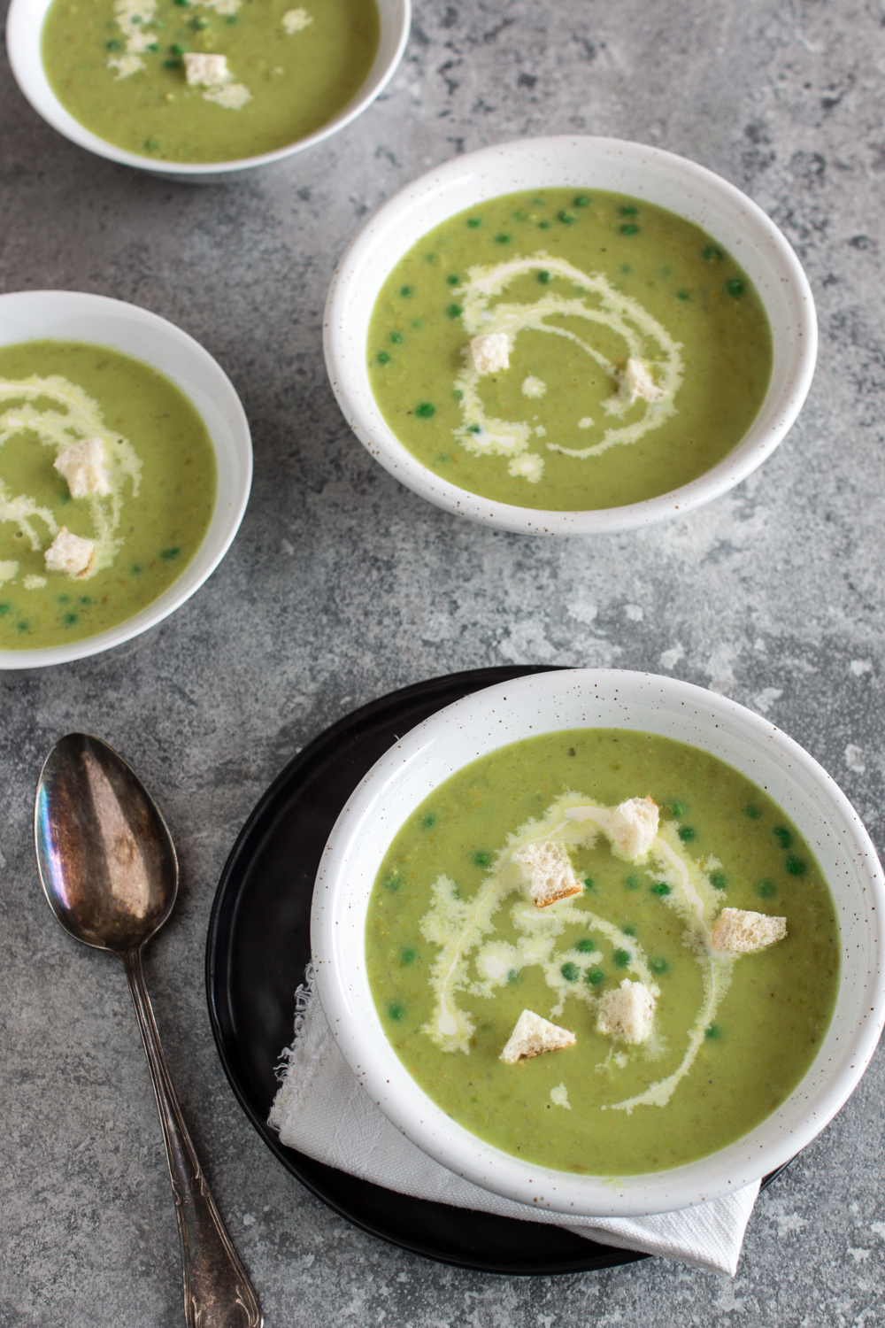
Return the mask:
<path id="1" fill-rule="evenodd" d="M 261 1328 L 252 1284 L 215 1207 L 175 1097 L 145 985 L 141 950 L 122 952 L 138 1028 L 154 1082 L 175 1195 L 187 1328 Z"/>

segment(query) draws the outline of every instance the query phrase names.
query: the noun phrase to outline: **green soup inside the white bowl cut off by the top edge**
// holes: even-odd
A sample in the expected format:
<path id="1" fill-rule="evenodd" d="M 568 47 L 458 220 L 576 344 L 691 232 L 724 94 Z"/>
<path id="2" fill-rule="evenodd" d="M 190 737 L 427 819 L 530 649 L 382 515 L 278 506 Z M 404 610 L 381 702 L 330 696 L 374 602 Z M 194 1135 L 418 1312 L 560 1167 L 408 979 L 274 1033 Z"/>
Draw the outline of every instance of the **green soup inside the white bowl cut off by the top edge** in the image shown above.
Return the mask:
<path id="1" fill-rule="evenodd" d="M 163 161 L 235 161 L 337 116 L 379 31 L 375 0 L 53 0 L 42 62 L 100 138 Z"/>

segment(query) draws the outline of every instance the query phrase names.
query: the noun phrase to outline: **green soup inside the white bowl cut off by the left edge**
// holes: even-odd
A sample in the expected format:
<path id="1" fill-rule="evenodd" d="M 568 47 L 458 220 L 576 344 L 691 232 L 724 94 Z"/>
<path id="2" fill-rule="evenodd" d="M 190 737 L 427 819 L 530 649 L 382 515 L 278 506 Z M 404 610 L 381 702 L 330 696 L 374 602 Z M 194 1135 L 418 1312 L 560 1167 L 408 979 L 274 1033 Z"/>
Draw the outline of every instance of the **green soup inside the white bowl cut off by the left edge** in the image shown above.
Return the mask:
<path id="1" fill-rule="evenodd" d="M 215 491 L 208 430 L 162 373 L 77 341 L 0 347 L 0 649 L 145 608 L 199 548 Z"/>

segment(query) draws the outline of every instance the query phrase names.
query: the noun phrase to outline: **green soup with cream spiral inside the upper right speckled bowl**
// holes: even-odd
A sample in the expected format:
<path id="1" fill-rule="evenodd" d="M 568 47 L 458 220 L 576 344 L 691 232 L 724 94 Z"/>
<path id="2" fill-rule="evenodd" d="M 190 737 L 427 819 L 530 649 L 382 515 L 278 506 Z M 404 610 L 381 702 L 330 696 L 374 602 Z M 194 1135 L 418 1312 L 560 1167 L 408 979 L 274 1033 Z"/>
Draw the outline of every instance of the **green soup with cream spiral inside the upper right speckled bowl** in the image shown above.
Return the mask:
<path id="1" fill-rule="evenodd" d="M 484 367 L 490 337 L 507 368 Z M 772 363 L 762 300 L 716 240 L 640 199 L 563 189 L 492 199 L 419 240 L 378 295 L 368 352 L 378 406 L 425 466 L 556 511 L 710 470 Z"/>

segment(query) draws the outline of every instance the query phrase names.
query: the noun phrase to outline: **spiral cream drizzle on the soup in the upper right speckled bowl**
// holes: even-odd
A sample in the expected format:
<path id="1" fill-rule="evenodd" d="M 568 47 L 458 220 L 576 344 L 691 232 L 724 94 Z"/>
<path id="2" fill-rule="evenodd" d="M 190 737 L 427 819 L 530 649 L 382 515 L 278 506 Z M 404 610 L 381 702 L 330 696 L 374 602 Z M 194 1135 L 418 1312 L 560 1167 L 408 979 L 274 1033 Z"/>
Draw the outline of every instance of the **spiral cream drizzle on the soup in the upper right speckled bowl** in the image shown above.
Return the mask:
<path id="1" fill-rule="evenodd" d="M 531 304 L 495 303 L 511 282 L 533 271 L 548 271 L 551 275 L 565 278 L 572 288 L 580 293 L 565 296 L 556 291 L 545 291 Z M 471 267 L 467 280 L 452 293 L 463 311 L 462 321 L 470 337 L 506 332 L 512 349 L 519 333 L 528 329 L 565 337 L 580 347 L 590 360 L 605 371 L 616 388 L 612 396 L 602 402 L 602 409 L 610 416 L 622 417 L 634 405 L 637 408 L 640 405 L 636 397 L 622 390 L 624 365 L 632 360 L 644 365 L 653 363 L 658 396 L 654 401 L 642 400 L 641 418 L 606 429 L 601 441 L 589 448 L 571 449 L 548 442 L 549 450 L 580 459 L 598 457 L 616 445 L 637 442 L 675 413 L 674 398 L 682 382 L 681 344 L 674 341 L 666 328 L 638 300 L 622 295 L 601 272 L 588 275 L 565 259 L 539 252 L 531 258 L 515 258 L 488 267 Z M 548 320 L 552 317 L 581 317 L 592 324 L 609 328 L 624 340 L 624 360 L 610 360 L 590 341 L 585 341 L 569 328 L 549 323 Z M 524 474 L 525 471 L 513 469 L 512 458 L 521 457 L 528 452 L 532 428 L 524 421 L 487 416 L 480 396 L 480 374 L 472 364 L 468 348 L 466 348 L 464 367 L 455 378 L 455 389 L 460 392 L 463 424 L 452 433 L 468 452 L 479 456 L 508 457 L 511 461 L 510 473 Z M 529 377 L 525 381 L 540 380 Z M 581 425 L 586 426 L 582 421 Z M 528 474 L 525 477 L 533 478 Z"/>

